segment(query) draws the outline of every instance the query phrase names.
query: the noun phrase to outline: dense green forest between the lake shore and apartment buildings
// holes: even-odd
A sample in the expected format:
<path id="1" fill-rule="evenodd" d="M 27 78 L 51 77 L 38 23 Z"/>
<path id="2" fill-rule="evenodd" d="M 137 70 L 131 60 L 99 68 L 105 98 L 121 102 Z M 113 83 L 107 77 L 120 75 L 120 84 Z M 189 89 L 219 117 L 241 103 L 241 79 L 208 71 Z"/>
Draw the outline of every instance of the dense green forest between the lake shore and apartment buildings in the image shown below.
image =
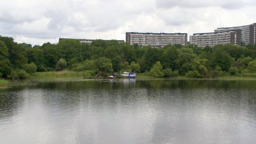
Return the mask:
<path id="1" fill-rule="evenodd" d="M 18 44 L 11 37 L 0 36 L 0 77 L 29 77 L 36 71 L 73 71 L 110 73 L 135 71 L 154 77 L 256 76 L 256 44 L 237 46 L 217 44 L 153 46 L 95 40 L 92 44 L 65 39 L 42 46 Z M 254 75 L 255 73 L 255 75 Z"/>

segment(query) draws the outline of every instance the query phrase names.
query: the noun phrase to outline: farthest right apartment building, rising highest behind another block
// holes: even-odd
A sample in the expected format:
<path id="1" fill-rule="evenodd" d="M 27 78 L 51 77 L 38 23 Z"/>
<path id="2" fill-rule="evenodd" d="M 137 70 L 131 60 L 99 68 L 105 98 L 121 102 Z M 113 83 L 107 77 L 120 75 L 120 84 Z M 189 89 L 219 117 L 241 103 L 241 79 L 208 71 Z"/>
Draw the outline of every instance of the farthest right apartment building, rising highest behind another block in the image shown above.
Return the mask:
<path id="1" fill-rule="evenodd" d="M 243 41 L 245 44 L 255 44 L 256 23 L 247 26 L 217 28 L 214 30 L 214 32 L 225 32 L 235 30 L 241 30 L 241 41 Z"/>

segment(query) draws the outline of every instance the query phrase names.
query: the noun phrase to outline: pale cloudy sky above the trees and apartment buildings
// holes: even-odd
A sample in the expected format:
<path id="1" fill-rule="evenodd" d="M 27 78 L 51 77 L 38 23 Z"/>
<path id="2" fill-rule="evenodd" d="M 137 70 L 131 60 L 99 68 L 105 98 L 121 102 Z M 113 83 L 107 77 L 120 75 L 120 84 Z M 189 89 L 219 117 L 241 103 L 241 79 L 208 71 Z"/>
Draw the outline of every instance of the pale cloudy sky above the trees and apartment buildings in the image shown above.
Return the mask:
<path id="1" fill-rule="evenodd" d="M 59 38 L 125 40 L 125 32 L 189 36 L 256 23 L 255 0 L 0 1 L 0 35 L 32 46 Z"/>

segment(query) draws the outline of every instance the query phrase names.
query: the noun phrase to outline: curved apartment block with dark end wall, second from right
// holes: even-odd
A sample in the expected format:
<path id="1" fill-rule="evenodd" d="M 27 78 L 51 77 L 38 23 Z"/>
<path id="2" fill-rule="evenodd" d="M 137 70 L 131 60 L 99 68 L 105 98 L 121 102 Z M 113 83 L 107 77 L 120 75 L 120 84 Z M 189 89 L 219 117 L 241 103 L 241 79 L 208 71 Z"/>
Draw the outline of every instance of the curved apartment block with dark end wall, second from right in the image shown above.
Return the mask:
<path id="1" fill-rule="evenodd" d="M 202 48 L 227 43 L 241 45 L 241 30 L 193 34 L 189 36 L 189 42 Z"/>

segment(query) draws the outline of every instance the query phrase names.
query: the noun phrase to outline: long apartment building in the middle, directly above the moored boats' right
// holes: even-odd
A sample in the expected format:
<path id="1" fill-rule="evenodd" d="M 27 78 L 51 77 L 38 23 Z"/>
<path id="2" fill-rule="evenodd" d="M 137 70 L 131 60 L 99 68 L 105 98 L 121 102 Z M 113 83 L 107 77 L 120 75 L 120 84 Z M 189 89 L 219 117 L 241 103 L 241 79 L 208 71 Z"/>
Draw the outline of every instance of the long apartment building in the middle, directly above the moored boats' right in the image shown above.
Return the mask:
<path id="1" fill-rule="evenodd" d="M 164 47 L 168 44 L 181 44 L 186 46 L 188 40 L 187 33 L 138 33 L 126 32 L 126 42 L 139 44 L 142 46 L 152 45 Z"/>

